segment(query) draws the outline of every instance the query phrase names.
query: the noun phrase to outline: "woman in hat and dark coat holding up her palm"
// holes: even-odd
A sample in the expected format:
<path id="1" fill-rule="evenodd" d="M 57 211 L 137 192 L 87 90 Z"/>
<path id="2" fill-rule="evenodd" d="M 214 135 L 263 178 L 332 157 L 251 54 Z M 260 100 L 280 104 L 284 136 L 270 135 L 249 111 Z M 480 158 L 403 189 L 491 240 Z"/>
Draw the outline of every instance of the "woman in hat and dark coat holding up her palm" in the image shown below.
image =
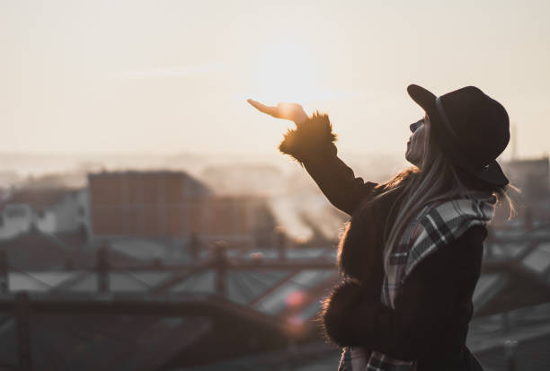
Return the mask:
<path id="1" fill-rule="evenodd" d="M 486 224 L 508 179 L 495 159 L 510 140 L 499 102 L 474 86 L 436 97 L 407 89 L 424 110 L 411 125 L 410 169 L 377 184 L 337 156 L 327 115 L 296 103 L 256 109 L 297 124 L 279 150 L 301 163 L 351 216 L 339 244 L 342 282 L 321 320 L 342 346 L 340 370 L 480 370 L 466 348 Z"/>

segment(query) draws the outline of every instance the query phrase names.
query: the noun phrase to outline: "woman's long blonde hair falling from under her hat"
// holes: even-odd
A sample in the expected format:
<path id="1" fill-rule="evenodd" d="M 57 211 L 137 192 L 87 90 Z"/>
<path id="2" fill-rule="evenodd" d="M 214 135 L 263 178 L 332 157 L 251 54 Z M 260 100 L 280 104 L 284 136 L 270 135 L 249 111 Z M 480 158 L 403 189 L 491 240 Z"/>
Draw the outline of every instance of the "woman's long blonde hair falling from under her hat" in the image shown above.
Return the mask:
<path id="1" fill-rule="evenodd" d="M 518 190 L 514 186 L 496 187 L 485 181 L 477 180 L 444 155 L 430 128 L 424 130 L 424 148 L 419 167 L 412 166 L 395 175 L 390 181 L 378 186 L 381 192 L 373 202 L 395 190 L 403 190 L 388 213 L 384 229 L 384 269 L 387 272 L 389 254 L 400 242 L 407 225 L 419 215 L 421 209 L 432 202 L 448 198 L 472 199 L 473 191 L 487 191 L 499 201 L 505 199 L 510 206 L 510 217 L 515 213 L 508 190 Z M 407 181 L 405 181 L 407 180 Z M 398 208 L 398 209 L 396 209 Z M 396 211 L 396 214 L 395 214 Z M 389 223 L 395 214 L 394 223 Z M 509 217 L 509 218 L 510 218 Z"/>

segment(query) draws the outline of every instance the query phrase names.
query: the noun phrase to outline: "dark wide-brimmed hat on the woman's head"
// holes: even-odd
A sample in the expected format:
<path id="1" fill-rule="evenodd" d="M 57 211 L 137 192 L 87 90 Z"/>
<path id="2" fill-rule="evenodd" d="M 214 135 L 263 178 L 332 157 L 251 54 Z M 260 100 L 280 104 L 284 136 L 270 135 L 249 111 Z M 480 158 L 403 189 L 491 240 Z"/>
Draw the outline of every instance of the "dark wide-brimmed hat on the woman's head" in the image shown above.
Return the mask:
<path id="1" fill-rule="evenodd" d="M 510 142 L 510 119 L 501 103 L 475 86 L 439 97 L 415 84 L 407 92 L 428 115 L 430 130 L 453 163 L 493 185 L 509 183 L 496 162 Z"/>

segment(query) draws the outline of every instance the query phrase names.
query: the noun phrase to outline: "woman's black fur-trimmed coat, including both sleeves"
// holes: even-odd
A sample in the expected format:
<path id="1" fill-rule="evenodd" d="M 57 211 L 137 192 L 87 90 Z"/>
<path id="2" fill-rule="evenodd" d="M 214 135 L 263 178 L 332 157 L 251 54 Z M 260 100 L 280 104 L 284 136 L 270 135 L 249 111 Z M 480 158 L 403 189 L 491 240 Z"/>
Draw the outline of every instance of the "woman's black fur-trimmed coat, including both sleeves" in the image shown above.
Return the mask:
<path id="1" fill-rule="evenodd" d="M 306 168 L 334 207 L 351 216 L 340 243 L 343 279 L 327 297 L 322 314 L 325 334 L 342 347 L 418 359 L 419 371 L 481 369 L 466 348 L 466 333 L 486 228 L 472 226 L 454 243 L 441 246 L 412 270 L 395 309 L 382 305 L 382 234 L 399 191 L 369 203 L 379 187 L 355 177 L 337 156 L 335 138 L 328 117 L 317 113 L 289 130 L 279 146 Z M 388 223 L 394 218 L 389 216 Z"/>

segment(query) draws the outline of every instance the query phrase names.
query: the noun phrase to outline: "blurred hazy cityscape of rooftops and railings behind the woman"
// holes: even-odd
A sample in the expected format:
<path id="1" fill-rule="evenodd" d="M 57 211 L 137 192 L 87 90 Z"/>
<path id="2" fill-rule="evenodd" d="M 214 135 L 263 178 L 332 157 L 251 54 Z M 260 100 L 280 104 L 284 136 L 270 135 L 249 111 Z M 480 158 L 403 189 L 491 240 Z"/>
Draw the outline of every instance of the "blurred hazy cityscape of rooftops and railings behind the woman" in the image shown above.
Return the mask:
<path id="1" fill-rule="evenodd" d="M 335 370 L 316 314 L 349 217 L 287 157 L 1 155 L 0 370 Z M 365 181 L 405 164 L 350 155 Z M 548 157 L 501 162 L 468 347 L 550 369 Z"/>

